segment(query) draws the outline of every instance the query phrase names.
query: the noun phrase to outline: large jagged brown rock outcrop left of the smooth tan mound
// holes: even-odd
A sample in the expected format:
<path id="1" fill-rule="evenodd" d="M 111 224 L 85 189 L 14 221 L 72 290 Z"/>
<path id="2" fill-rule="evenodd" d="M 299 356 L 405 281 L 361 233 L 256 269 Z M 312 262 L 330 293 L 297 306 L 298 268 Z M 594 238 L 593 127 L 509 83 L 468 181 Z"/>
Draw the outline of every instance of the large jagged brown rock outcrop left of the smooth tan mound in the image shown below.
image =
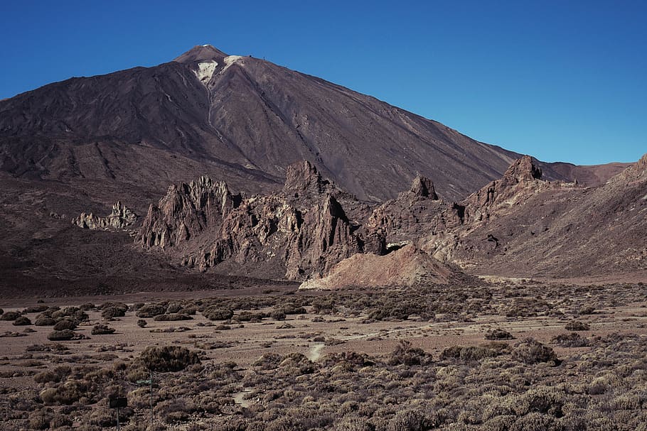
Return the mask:
<path id="1" fill-rule="evenodd" d="M 137 241 L 200 269 L 225 263 L 289 279 L 320 276 L 355 253 L 385 250 L 381 232 L 349 219 L 335 194 L 349 199 L 307 162 L 290 166 L 283 192 L 272 195 L 232 195 L 202 177 L 151 205 Z"/>

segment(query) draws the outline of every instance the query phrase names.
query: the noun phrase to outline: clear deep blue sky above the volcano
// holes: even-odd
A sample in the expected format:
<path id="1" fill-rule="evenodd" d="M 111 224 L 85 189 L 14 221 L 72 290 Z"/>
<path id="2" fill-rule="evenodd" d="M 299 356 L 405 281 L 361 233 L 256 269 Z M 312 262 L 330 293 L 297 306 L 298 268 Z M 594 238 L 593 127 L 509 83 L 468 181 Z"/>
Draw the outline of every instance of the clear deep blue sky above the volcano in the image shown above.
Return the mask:
<path id="1" fill-rule="evenodd" d="M 210 43 L 479 141 L 578 164 L 647 153 L 647 1 L 2 1 L 0 99 Z"/>

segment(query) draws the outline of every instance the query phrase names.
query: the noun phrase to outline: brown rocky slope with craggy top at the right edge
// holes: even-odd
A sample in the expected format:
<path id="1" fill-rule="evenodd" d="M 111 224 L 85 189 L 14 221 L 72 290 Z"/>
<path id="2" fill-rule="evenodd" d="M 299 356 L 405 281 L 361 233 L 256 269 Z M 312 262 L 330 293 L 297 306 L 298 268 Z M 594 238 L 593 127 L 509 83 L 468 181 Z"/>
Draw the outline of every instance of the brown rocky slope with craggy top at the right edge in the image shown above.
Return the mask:
<path id="1" fill-rule="evenodd" d="M 468 197 L 464 224 L 424 249 L 478 273 L 647 275 L 647 156 L 596 188 L 542 181 L 528 161 Z"/>

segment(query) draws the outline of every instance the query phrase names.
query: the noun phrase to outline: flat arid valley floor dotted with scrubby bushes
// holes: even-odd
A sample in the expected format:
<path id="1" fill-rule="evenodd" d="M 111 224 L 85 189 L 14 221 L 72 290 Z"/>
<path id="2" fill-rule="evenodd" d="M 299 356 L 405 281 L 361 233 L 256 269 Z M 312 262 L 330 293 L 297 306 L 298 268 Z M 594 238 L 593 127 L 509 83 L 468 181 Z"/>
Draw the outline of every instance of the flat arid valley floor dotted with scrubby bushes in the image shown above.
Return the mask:
<path id="1" fill-rule="evenodd" d="M 645 430 L 646 297 L 480 280 L 3 300 L 2 429 L 114 429 L 118 394 L 122 429 L 149 429 L 152 368 L 155 430 Z M 50 341 L 61 320 L 75 339 Z"/>

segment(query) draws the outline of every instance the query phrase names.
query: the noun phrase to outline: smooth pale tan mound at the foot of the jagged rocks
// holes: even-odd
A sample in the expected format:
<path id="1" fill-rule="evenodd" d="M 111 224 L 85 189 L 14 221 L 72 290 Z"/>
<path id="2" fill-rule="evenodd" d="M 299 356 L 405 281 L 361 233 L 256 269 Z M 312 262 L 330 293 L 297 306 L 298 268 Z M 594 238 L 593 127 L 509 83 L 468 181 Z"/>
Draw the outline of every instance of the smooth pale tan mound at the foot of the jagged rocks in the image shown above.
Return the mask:
<path id="1" fill-rule="evenodd" d="M 408 245 L 385 256 L 355 254 L 337 263 L 326 277 L 301 283 L 299 289 L 334 290 L 382 286 L 411 287 L 447 283 L 458 271 Z"/>

